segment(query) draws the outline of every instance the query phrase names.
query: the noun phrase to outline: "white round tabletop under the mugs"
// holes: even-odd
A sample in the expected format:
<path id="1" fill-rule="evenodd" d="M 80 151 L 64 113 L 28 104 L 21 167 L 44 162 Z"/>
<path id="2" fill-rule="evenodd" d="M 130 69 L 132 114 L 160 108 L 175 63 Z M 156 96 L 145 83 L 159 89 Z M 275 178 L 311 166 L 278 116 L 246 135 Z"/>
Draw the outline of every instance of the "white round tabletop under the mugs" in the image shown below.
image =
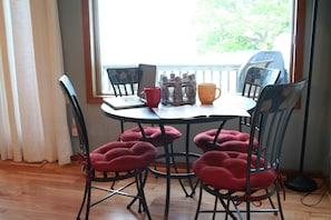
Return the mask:
<path id="1" fill-rule="evenodd" d="M 103 112 L 114 119 L 148 123 L 198 123 L 207 121 L 222 121 L 236 117 L 250 117 L 249 110 L 255 107 L 255 101 L 236 94 L 222 94 L 211 106 L 184 104 L 168 107 L 159 104 L 158 108 L 139 107 L 115 110 L 103 103 Z"/>

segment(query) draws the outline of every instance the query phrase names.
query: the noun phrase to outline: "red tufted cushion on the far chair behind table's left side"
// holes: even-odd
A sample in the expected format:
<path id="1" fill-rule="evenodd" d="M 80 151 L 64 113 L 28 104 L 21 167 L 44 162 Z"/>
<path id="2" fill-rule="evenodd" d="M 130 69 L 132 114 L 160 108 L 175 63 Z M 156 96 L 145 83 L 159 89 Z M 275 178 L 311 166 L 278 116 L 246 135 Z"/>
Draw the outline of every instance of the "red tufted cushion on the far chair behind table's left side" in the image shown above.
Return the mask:
<path id="1" fill-rule="evenodd" d="M 166 132 L 167 143 L 171 143 L 174 140 L 182 137 L 182 133 L 174 127 L 165 126 L 164 129 Z M 144 131 L 145 131 L 147 141 L 153 143 L 154 146 L 164 144 L 164 137 L 163 137 L 160 128 L 158 126 L 144 127 Z M 119 134 L 118 140 L 120 140 L 120 141 L 137 141 L 137 140 L 143 141 L 143 134 L 142 134 L 139 127 L 134 127 L 134 128 L 130 128 L 130 129 L 124 131 L 121 134 Z"/>

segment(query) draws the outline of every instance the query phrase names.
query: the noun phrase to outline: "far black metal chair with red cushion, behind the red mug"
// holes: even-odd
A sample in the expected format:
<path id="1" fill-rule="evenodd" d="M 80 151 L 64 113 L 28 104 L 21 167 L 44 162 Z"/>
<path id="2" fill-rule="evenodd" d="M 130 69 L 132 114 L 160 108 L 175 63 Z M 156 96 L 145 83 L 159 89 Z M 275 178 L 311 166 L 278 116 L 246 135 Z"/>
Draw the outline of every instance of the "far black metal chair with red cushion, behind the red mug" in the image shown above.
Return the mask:
<path id="1" fill-rule="evenodd" d="M 142 87 L 140 80 L 143 80 L 144 71 L 142 71 L 140 67 L 108 68 L 107 73 L 108 73 L 108 78 L 111 83 L 111 87 L 115 91 L 114 92 L 115 96 L 133 96 L 133 94 L 139 96 L 138 91 L 143 90 L 143 88 L 140 88 Z M 154 73 L 156 74 L 156 67 L 155 67 Z M 169 153 L 168 154 L 164 153 L 166 152 L 165 149 L 163 150 L 164 152 L 158 153 L 154 163 L 154 169 L 150 170 L 152 173 L 156 174 L 156 177 L 158 176 L 166 177 L 166 173 L 160 171 L 163 169 L 158 169 L 157 164 L 166 163 L 165 158 L 168 157 L 171 159 L 171 166 L 174 168 L 174 172 L 179 173 L 176 157 L 184 157 L 183 156 L 184 153 L 176 153 L 176 151 L 174 150 L 174 141 L 182 137 L 182 132 L 172 126 L 164 126 L 164 132 L 165 132 L 165 136 L 163 134 L 163 131 L 159 126 L 140 124 L 140 123 L 138 123 L 137 127 L 133 127 L 125 130 L 121 121 L 121 133 L 119 134 L 118 140 L 119 141 L 133 141 L 133 140 L 148 141 L 153 143 L 155 147 L 167 148 L 167 151 Z M 185 184 L 182 179 L 178 179 L 178 181 L 187 197 L 194 193 L 196 184 L 194 186 L 191 178 L 188 178 L 188 182 L 189 182 L 189 188 L 192 189 L 193 192 L 188 192 L 185 189 Z"/>

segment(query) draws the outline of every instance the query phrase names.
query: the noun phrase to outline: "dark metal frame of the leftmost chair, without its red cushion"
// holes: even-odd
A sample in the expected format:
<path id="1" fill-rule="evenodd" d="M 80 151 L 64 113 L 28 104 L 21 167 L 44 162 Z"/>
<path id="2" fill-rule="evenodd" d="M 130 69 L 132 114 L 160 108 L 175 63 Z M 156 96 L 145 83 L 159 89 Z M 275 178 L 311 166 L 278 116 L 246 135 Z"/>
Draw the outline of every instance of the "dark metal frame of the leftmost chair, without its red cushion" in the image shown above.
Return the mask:
<path id="1" fill-rule="evenodd" d="M 144 186 L 146 183 L 146 178 L 148 173 L 148 168 L 142 168 L 142 169 L 136 169 L 132 170 L 129 172 L 99 172 L 95 171 L 91 169 L 91 162 L 90 162 L 90 151 L 89 151 L 89 140 L 88 140 L 88 134 L 87 134 L 87 128 L 84 119 L 84 114 L 76 94 L 76 91 L 71 84 L 71 81 L 69 80 L 67 74 L 64 74 L 60 79 L 60 86 L 64 90 L 64 92 L 67 94 L 71 108 L 72 108 L 72 114 L 76 121 L 77 130 L 78 130 L 78 136 L 79 136 L 79 160 L 82 163 L 82 174 L 86 179 L 86 184 L 85 184 L 85 192 L 84 192 L 84 198 L 81 201 L 81 206 L 79 209 L 79 212 L 77 214 L 77 219 L 80 219 L 80 214 L 82 212 L 84 206 L 86 206 L 86 213 L 85 213 L 85 219 L 89 218 L 89 211 L 90 208 L 94 206 L 114 197 L 115 194 L 121 194 L 125 197 L 133 198 L 132 202 L 127 206 L 127 209 L 129 209 L 136 200 L 139 200 L 138 204 L 138 212 L 143 211 L 146 212 L 147 218 L 150 220 L 150 213 L 148 211 L 148 207 L 146 203 L 146 198 L 144 193 Z M 125 186 L 118 187 L 117 189 L 115 188 L 115 183 L 120 180 L 126 180 L 126 179 L 132 179 L 128 183 L 125 183 Z M 97 186 L 97 182 L 109 182 L 110 187 L 105 188 Z M 137 194 L 132 194 L 127 193 L 124 190 L 127 189 L 128 187 L 136 184 L 137 188 Z M 101 190 L 104 192 L 108 192 L 107 196 L 91 202 L 91 190 L 97 189 Z"/>

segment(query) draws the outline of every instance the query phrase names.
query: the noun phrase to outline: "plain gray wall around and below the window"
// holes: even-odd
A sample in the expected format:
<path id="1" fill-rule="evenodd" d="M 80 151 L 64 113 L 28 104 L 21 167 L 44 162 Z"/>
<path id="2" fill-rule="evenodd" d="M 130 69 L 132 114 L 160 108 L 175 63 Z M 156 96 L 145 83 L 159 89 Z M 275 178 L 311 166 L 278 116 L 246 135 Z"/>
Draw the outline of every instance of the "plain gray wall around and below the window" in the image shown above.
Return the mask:
<path id="1" fill-rule="evenodd" d="M 81 31 L 81 4 L 80 0 L 58 0 L 60 26 L 65 56 L 65 70 L 70 76 L 77 88 L 82 110 L 87 120 L 90 146 L 97 147 L 106 141 L 115 140 L 119 133 L 119 122 L 105 118 L 99 109 L 99 104 L 86 103 L 85 70 L 82 53 L 82 31 Z M 304 72 L 309 72 L 309 36 L 311 24 L 311 1 L 306 1 L 306 28 L 305 28 L 305 52 Z M 305 171 L 323 171 L 329 176 L 330 160 L 330 72 L 331 69 L 331 1 L 320 0 L 318 7 L 315 48 L 313 51 L 313 69 L 311 83 L 310 114 L 305 149 Z M 305 94 L 303 98 L 304 106 Z M 289 124 L 285 137 L 284 150 L 282 154 L 282 168 L 299 169 L 301 137 L 303 127 L 303 109 L 295 110 Z M 192 137 L 195 133 L 212 128 L 216 124 L 194 126 Z M 231 123 L 226 124 L 232 127 Z M 178 127 L 183 129 L 183 127 Z M 74 143 L 76 141 L 74 140 Z M 183 142 L 177 142 L 178 148 Z M 77 146 L 74 144 L 77 149 Z M 196 147 L 192 144 L 192 149 Z"/>

